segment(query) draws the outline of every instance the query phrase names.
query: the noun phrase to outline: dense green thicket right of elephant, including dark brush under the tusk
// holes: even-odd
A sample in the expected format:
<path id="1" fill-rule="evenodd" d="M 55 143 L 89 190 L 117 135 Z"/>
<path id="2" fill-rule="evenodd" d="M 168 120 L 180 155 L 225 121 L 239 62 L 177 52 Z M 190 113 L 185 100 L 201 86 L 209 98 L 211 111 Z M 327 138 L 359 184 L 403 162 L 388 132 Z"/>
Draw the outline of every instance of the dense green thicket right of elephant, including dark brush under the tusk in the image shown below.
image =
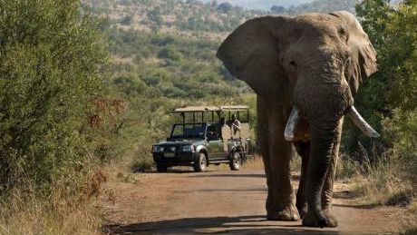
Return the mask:
<path id="1" fill-rule="evenodd" d="M 355 103 L 382 137 L 370 140 L 347 126 L 345 150 L 376 164 L 397 162 L 396 174 L 412 181 L 416 189 L 417 2 L 403 1 L 393 7 L 388 0 L 364 0 L 356 12 L 378 53 L 379 65 L 378 72 L 360 87 Z"/>

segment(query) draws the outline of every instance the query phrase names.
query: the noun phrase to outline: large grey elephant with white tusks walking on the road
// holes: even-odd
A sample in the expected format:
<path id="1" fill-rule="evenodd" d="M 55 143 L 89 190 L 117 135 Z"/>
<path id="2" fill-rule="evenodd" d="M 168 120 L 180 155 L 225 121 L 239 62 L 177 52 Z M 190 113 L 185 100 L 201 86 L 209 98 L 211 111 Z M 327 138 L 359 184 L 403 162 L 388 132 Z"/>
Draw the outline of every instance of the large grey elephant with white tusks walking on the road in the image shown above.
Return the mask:
<path id="1" fill-rule="evenodd" d="M 345 11 L 258 17 L 229 34 L 217 56 L 257 94 L 267 220 L 336 227 L 332 197 L 344 115 L 367 136 L 379 136 L 354 108 L 359 84 L 377 70 L 362 26 Z M 296 193 L 294 149 L 302 158 Z"/>

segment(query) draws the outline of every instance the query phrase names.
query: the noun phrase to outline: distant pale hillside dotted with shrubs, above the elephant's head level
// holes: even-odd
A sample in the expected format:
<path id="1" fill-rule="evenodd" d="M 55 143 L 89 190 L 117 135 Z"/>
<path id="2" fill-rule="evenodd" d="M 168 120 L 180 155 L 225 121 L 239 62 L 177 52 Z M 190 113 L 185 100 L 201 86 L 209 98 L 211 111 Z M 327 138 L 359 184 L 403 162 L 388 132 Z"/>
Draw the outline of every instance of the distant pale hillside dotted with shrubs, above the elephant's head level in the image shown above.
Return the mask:
<path id="1" fill-rule="evenodd" d="M 207 2 L 207 1 L 206 1 Z M 181 36 L 197 35 L 201 32 L 227 34 L 238 24 L 260 15 L 298 15 L 306 12 L 332 12 L 347 10 L 354 13 L 355 0 L 316 0 L 296 1 L 301 5 L 280 5 L 281 1 L 267 1 L 267 11 L 245 10 L 241 6 L 216 1 L 202 3 L 196 0 L 86 0 L 93 11 L 108 15 L 112 25 L 124 30 L 139 30 L 147 33 L 177 34 Z M 251 1 L 250 4 L 256 4 Z M 263 2 L 265 4 L 265 1 Z M 274 4 L 276 3 L 276 4 Z M 223 37 L 224 37 L 223 34 Z M 223 38 L 223 37 L 217 37 Z M 215 37 L 216 38 L 216 37 Z"/>

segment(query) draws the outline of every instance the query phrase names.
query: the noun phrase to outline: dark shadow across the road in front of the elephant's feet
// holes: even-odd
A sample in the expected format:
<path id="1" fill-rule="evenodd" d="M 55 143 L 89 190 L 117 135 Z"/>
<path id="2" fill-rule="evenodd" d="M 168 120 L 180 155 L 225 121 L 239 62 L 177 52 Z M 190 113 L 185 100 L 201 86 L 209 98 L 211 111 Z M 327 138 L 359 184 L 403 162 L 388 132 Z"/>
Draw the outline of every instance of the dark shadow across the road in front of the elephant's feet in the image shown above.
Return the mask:
<path id="1" fill-rule="evenodd" d="M 335 230 L 305 228 L 299 223 L 281 224 L 265 220 L 263 216 L 185 218 L 133 223 L 128 225 L 109 225 L 103 229 L 105 234 L 311 234 L 335 235 Z"/>

